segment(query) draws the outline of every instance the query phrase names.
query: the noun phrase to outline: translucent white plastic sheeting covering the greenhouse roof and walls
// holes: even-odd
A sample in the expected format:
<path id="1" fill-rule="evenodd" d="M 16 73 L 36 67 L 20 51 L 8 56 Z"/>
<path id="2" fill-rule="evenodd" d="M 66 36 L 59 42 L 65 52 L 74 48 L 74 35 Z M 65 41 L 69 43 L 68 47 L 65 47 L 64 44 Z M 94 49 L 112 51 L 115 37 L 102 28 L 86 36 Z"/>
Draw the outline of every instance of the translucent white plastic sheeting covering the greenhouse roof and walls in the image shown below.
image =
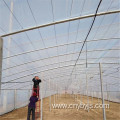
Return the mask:
<path id="1" fill-rule="evenodd" d="M 98 3 L 99 0 L 1 0 L 0 35 L 95 14 Z M 119 11 L 119 6 L 119 0 L 102 0 L 97 13 Z M 109 100 L 120 102 L 119 17 L 119 12 L 96 16 L 84 46 L 94 16 L 3 37 L 1 87 L 5 90 L 0 94 L 0 114 L 28 103 L 35 75 L 42 79 L 43 98 L 65 91 L 100 97 L 99 62 L 105 99 L 108 93 Z M 12 89 L 16 89 L 16 99 Z"/>

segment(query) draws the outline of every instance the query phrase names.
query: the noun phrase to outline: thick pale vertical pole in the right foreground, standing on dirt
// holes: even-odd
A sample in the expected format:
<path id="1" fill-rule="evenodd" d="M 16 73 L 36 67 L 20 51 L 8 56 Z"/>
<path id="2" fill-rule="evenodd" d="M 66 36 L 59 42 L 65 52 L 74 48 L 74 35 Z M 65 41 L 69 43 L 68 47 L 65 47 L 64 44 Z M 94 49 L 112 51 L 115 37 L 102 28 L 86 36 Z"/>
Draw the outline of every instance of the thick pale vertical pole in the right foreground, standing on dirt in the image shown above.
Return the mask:
<path id="1" fill-rule="evenodd" d="M 106 113 L 105 113 L 105 106 L 104 106 L 103 78 L 102 78 L 101 63 L 99 63 L 99 69 L 100 69 L 100 82 L 101 82 L 101 97 L 102 97 L 102 105 L 103 105 L 103 120 L 106 120 Z"/>

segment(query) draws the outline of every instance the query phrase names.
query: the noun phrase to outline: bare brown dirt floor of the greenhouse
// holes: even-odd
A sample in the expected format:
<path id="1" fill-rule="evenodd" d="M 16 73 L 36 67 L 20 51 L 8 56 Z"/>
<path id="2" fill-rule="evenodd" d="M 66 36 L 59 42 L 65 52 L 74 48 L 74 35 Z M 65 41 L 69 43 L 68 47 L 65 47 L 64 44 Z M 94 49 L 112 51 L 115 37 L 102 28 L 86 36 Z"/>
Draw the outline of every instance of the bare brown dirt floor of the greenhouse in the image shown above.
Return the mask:
<path id="1" fill-rule="evenodd" d="M 89 105 L 100 104 L 101 100 L 97 98 L 80 96 L 80 95 L 54 95 L 51 96 L 51 104 L 87 104 Z M 102 120 L 102 108 L 89 108 L 77 109 L 74 108 L 56 108 L 54 109 L 51 105 L 50 111 L 50 97 L 43 99 L 43 120 Z M 120 120 L 120 103 L 114 103 L 105 101 L 105 104 L 109 104 L 109 108 L 106 108 L 106 119 L 107 120 Z M 68 107 L 68 106 L 67 106 Z M 27 107 L 20 108 L 0 116 L 0 120 L 26 120 Z"/>

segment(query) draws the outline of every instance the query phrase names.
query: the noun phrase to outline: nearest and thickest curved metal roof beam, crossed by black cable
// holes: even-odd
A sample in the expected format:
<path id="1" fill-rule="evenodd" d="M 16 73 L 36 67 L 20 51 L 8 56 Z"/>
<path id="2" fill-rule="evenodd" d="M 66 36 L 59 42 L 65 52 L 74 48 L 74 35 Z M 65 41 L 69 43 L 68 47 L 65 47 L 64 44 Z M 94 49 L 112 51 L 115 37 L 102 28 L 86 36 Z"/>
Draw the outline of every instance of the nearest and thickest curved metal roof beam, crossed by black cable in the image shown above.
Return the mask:
<path id="1" fill-rule="evenodd" d="M 100 13 L 97 13 L 96 16 L 108 15 L 108 14 L 119 13 L 119 12 L 120 12 L 120 10 L 100 12 Z M 2 35 L 1 37 L 7 37 L 7 36 L 18 34 L 18 33 L 26 32 L 26 31 L 30 31 L 30 30 L 34 30 L 34 29 L 39 29 L 39 28 L 42 28 L 42 27 L 47 27 L 47 26 L 56 25 L 56 24 L 60 24 L 60 23 L 75 21 L 75 20 L 79 20 L 79 19 L 90 18 L 90 17 L 94 17 L 94 16 L 95 16 L 95 14 L 90 14 L 90 15 L 84 15 L 84 16 L 74 17 L 74 18 L 70 18 L 70 19 L 65 19 L 65 20 L 61 20 L 61 21 L 55 21 L 55 22 L 52 22 L 52 23 L 43 24 L 43 25 L 27 28 L 27 29 L 24 29 L 24 30 L 19 30 L 19 31 L 16 31 L 16 32 L 8 33 L 8 34 L 5 34 L 5 35 Z"/>

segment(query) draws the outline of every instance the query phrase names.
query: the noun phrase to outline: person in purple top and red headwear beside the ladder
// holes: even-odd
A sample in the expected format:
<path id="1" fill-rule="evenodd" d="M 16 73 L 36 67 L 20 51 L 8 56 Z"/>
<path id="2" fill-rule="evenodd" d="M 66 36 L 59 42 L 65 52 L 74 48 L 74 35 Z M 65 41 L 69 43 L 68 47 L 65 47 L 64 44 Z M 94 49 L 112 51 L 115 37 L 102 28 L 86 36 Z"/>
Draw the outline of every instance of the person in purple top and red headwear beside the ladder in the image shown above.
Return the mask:
<path id="1" fill-rule="evenodd" d="M 35 120 L 35 104 L 38 101 L 37 94 L 36 92 L 33 93 L 33 95 L 30 97 L 30 103 L 28 105 L 28 115 L 27 115 L 27 120 L 30 120 L 30 115 L 32 112 L 32 120 Z"/>

